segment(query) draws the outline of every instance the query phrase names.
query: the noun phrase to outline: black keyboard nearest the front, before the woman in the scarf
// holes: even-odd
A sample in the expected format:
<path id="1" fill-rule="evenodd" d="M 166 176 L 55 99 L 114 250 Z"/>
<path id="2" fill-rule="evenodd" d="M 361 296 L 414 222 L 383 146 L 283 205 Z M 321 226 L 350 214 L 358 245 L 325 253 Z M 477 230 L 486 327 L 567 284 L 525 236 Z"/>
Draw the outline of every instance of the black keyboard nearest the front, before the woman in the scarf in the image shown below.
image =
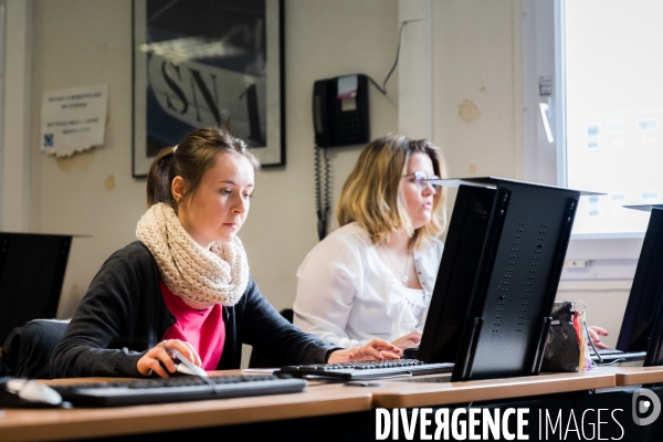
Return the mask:
<path id="1" fill-rule="evenodd" d="M 213 388 L 198 377 L 181 376 L 54 386 L 53 389 L 74 406 L 116 407 L 294 393 L 306 387 L 303 379 L 281 379 L 272 375 L 225 375 L 210 376 L 210 379 L 214 382 Z"/>

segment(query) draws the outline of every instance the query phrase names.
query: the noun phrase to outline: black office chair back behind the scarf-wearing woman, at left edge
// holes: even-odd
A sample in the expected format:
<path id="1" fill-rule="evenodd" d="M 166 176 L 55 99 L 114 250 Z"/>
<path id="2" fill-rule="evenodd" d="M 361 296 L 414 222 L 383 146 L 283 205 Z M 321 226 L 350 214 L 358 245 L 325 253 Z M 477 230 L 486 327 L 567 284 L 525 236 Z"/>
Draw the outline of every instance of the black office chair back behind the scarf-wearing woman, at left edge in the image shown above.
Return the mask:
<path id="1" fill-rule="evenodd" d="M 2 345 L 0 377 L 51 379 L 51 354 L 67 325 L 69 319 L 34 319 L 13 328 Z"/>

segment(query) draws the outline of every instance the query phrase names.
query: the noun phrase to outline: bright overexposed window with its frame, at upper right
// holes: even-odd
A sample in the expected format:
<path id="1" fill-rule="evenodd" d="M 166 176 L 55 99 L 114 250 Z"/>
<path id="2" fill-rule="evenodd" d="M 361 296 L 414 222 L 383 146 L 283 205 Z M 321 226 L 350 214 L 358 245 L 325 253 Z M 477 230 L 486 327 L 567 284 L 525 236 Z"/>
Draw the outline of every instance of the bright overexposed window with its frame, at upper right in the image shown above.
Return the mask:
<path id="1" fill-rule="evenodd" d="M 606 193 L 581 199 L 573 238 L 642 236 L 649 214 L 623 206 L 663 202 L 663 2 L 544 0 L 523 12 L 525 107 L 541 109 L 524 119 L 525 176 Z"/>

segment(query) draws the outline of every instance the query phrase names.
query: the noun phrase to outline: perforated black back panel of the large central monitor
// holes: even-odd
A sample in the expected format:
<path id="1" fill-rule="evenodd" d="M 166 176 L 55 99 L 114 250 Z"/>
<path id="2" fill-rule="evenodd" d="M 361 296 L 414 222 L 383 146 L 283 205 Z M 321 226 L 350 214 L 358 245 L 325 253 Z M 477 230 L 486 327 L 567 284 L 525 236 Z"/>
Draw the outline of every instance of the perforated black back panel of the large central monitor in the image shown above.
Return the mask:
<path id="1" fill-rule="evenodd" d="M 579 197 L 567 189 L 497 186 L 456 379 L 538 373 Z"/>

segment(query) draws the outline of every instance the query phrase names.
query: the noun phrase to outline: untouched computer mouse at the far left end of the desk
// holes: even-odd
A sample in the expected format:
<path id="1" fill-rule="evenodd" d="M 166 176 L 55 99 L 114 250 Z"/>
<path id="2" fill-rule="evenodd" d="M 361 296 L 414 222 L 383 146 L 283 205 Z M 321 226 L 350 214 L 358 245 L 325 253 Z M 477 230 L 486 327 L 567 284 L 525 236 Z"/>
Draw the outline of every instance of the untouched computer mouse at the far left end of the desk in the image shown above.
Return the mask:
<path id="1" fill-rule="evenodd" d="M 62 407 L 65 402 L 51 387 L 23 378 L 0 378 L 0 407 Z"/>

